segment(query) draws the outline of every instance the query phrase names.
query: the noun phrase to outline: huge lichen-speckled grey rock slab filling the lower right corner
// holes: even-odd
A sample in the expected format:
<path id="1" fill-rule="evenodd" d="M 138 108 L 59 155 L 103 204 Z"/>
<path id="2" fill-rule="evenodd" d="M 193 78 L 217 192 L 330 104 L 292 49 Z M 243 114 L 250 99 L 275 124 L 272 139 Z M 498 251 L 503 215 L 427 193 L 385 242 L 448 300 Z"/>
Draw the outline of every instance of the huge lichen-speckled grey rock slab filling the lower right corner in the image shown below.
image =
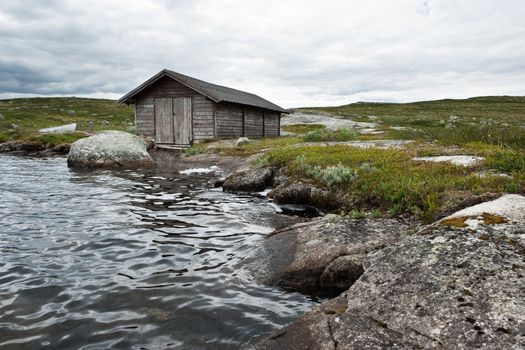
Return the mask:
<path id="1" fill-rule="evenodd" d="M 254 348 L 522 349 L 525 198 L 473 208 L 369 253 L 343 295 Z"/>

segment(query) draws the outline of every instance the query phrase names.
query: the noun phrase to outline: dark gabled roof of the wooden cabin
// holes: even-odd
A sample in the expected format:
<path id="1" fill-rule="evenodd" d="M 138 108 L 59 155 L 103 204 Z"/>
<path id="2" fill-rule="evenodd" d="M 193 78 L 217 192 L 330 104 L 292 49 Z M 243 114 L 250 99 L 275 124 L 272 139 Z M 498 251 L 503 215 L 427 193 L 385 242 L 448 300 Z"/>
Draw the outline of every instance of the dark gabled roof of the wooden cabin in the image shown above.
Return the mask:
<path id="1" fill-rule="evenodd" d="M 212 83 L 208 83 L 203 80 L 195 79 L 192 77 L 189 77 L 184 74 L 180 74 L 168 69 L 163 69 L 147 81 L 145 81 L 143 84 L 138 86 L 137 88 L 133 89 L 132 91 L 128 92 L 126 95 L 124 95 L 120 100 L 118 100 L 118 103 L 129 103 L 129 100 L 144 91 L 149 86 L 155 84 L 158 80 L 160 80 L 163 77 L 170 77 L 171 79 L 181 83 L 182 85 L 185 85 L 189 87 L 190 89 L 193 89 L 197 91 L 198 93 L 208 97 L 210 100 L 214 102 L 233 102 L 233 103 L 239 103 L 243 105 L 249 105 L 249 106 L 255 106 L 260 108 L 269 109 L 272 111 L 278 111 L 282 113 L 289 113 L 284 108 L 281 108 L 277 106 L 276 104 L 271 103 L 268 100 L 265 100 L 262 97 L 259 97 L 255 94 L 251 94 L 249 92 L 235 90 L 226 86 L 221 85 L 215 85 Z"/>

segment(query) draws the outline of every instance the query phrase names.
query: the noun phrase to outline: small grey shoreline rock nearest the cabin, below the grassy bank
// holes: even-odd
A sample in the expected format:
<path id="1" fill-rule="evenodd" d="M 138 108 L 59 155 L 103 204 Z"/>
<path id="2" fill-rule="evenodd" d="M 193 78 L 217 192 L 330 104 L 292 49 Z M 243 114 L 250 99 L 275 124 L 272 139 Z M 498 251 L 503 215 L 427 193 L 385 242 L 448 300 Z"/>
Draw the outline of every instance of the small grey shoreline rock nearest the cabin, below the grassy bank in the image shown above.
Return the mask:
<path id="1" fill-rule="evenodd" d="M 232 192 L 259 192 L 270 186 L 272 169 L 243 166 L 228 175 L 222 188 Z"/>

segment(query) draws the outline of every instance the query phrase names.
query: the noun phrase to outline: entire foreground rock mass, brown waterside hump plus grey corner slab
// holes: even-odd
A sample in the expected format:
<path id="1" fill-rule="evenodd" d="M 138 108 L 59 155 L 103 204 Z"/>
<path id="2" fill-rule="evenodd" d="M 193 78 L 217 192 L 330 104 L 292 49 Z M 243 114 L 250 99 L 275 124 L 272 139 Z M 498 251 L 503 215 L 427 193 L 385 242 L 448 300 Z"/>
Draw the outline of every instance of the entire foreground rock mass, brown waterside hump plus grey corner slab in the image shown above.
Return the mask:
<path id="1" fill-rule="evenodd" d="M 468 212 L 475 228 L 327 216 L 276 232 L 248 262 L 262 280 L 346 290 L 252 348 L 523 348 L 525 198 L 497 201 Z"/>

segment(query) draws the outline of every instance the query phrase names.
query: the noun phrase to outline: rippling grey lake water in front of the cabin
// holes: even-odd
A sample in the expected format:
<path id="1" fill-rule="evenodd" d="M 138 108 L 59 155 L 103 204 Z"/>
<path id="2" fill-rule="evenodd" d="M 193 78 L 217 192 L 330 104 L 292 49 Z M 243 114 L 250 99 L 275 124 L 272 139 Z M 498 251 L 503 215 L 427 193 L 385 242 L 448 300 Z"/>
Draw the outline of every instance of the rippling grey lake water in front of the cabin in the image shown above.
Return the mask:
<path id="1" fill-rule="evenodd" d="M 275 207 L 178 170 L 0 155 L 0 348 L 237 349 L 312 308 L 237 267 Z"/>

